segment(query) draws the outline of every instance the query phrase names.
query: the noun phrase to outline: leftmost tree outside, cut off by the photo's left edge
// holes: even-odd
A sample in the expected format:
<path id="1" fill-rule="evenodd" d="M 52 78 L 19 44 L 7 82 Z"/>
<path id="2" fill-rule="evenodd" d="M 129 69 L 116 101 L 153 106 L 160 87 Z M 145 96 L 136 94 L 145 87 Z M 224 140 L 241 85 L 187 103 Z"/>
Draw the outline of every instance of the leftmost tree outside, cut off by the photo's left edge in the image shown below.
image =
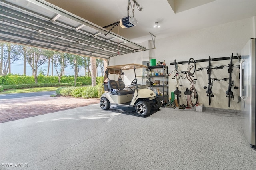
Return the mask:
<path id="1" fill-rule="evenodd" d="M 20 55 L 22 45 L 0 42 L 1 60 L 0 60 L 0 75 L 11 73 L 11 64 L 22 58 Z"/>

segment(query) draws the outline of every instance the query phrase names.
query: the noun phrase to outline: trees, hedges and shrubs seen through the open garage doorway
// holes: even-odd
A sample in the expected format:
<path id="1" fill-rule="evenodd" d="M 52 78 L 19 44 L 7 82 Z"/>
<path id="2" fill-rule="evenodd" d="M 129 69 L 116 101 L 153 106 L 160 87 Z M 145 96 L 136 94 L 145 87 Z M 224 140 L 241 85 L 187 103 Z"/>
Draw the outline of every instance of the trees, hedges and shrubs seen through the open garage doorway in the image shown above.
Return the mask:
<path id="1" fill-rule="evenodd" d="M 0 42 L 0 49 L 0 92 L 9 89 L 60 87 L 56 90 L 57 95 L 94 98 L 104 93 L 102 59 L 7 42 Z M 12 63 L 18 60 L 24 60 L 23 73 L 12 74 Z M 27 64 L 32 69 L 32 76 L 26 75 Z M 40 68 L 43 64 L 48 64 L 47 70 Z M 65 75 L 67 67 L 74 69 L 74 75 Z M 81 68 L 85 70 L 84 76 L 78 76 Z M 99 68 L 101 75 L 97 75 Z M 53 69 L 56 75 L 53 75 Z"/>

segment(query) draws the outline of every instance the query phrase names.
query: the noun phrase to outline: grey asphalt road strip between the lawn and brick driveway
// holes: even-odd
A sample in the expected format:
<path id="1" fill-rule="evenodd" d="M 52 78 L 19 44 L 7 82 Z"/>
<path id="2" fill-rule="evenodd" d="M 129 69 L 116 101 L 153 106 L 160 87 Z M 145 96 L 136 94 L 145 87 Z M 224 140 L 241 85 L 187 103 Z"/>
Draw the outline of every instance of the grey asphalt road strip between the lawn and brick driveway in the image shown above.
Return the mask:
<path id="1" fill-rule="evenodd" d="M 42 91 L 42 92 L 31 92 L 31 93 L 15 93 L 15 94 L 2 94 L 0 95 L 0 99 L 14 99 L 14 98 L 22 98 L 22 97 L 37 97 L 37 96 L 45 96 L 45 95 L 55 95 L 56 91 Z"/>

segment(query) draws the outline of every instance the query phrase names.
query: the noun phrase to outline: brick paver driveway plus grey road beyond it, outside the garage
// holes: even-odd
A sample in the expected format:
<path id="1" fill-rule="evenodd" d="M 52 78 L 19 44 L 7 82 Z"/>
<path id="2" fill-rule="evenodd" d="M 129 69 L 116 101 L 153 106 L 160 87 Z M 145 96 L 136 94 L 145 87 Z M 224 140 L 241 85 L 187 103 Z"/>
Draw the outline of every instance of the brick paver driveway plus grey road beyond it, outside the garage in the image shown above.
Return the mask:
<path id="1" fill-rule="evenodd" d="M 55 93 L 55 92 L 54 92 Z M 50 97 L 53 92 L 0 95 L 0 123 L 99 103 L 99 99 Z"/>

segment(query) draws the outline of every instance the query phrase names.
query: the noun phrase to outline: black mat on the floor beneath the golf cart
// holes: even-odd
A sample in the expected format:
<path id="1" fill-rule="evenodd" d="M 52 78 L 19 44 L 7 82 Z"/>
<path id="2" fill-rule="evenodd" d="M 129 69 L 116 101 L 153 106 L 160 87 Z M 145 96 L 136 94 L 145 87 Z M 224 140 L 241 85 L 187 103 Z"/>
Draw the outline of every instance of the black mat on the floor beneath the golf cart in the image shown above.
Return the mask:
<path id="1" fill-rule="evenodd" d="M 116 106 L 116 107 L 111 107 L 108 109 L 109 111 L 116 112 L 116 113 L 122 113 L 125 115 L 132 115 L 132 116 L 138 116 L 138 117 L 148 117 L 154 113 L 156 113 L 158 110 L 151 110 L 150 113 L 146 116 L 140 116 L 136 113 L 134 107 L 121 107 L 121 106 Z"/>

